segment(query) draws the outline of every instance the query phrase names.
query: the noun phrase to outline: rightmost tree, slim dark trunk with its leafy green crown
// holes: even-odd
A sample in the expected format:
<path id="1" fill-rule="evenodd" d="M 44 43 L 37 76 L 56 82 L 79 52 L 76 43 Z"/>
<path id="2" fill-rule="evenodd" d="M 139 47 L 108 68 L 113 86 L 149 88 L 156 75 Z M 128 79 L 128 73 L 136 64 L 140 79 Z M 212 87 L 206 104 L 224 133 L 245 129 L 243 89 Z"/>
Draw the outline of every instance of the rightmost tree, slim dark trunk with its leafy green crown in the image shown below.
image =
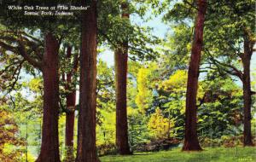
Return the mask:
<path id="1" fill-rule="evenodd" d="M 219 9 L 209 9 L 211 19 L 207 20 L 207 44 L 206 54 L 208 62 L 215 65 L 222 75 L 224 73 L 236 76 L 241 80 L 243 89 L 244 113 L 243 113 L 243 144 L 252 146 L 251 131 L 251 90 L 250 65 L 253 55 L 253 46 L 256 42 L 253 31 L 255 31 L 254 3 L 252 1 L 234 1 L 233 3 L 219 2 L 225 12 Z M 226 17 L 232 15 L 230 20 Z M 212 24 L 218 27 L 212 28 Z M 214 37 L 212 37 L 214 36 Z M 240 66 L 241 65 L 241 66 Z M 242 70 L 241 70 L 242 68 Z"/>

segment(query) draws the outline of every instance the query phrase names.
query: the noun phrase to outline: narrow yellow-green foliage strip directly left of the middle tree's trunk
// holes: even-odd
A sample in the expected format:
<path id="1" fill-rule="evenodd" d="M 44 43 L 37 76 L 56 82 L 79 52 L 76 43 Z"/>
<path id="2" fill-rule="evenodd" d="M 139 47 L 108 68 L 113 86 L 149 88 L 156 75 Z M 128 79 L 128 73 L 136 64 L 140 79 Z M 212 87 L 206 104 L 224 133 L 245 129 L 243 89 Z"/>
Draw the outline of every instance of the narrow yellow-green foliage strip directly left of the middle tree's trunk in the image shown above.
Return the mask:
<path id="1" fill-rule="evenodd" d="M 116 153 L 113 68 L 108 67 L 107 63 L 102 60 L 97 62 L 97 66 L 97 153 L 113 154 Z"/>

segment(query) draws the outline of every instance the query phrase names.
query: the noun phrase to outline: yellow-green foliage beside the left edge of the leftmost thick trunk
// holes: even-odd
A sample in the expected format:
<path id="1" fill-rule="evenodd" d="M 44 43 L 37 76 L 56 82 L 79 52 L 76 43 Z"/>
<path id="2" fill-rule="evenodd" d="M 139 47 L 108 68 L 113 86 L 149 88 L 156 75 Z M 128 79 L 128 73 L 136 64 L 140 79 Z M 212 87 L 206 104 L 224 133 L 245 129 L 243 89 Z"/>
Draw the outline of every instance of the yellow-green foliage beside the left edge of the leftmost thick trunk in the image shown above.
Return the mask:
<path id="1" fill-rule="evenodd" d="M 17 150 L 20 152 L 19 160 L 33 161 L 41 142 L 42 79 L 32 78 L 31 81 L 18 82 L 15 92 L 12 91 L 5 97 L 8 100 L 1 104 L 1 111 L 12 114 L 7 115 L 7 118 L 11 118 L 9 121 L 14 122 L 16 129 L 19 128 L 15 130 L 15 137 L 23 142 Z M 15 142 L 15 137 L 11 141 Z M 9 145 L 9 151 L 11 150 L 14 150 L 12 144 Z"/>

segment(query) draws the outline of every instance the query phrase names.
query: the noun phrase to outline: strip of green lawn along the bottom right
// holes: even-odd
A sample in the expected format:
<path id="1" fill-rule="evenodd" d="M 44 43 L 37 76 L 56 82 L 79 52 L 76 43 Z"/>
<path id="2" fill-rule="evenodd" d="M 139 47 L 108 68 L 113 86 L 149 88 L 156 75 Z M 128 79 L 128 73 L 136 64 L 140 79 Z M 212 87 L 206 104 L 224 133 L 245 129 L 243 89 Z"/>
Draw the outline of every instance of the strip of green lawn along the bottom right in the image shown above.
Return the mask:
<path id="1" fill-rule="evenodd" d="M 156 153 L 134 153 L 132 156 L 104 156 L 102 162 L 158 162 L 158 161 L 256 161 L 256 148 L 205 148 L 202 152 L 181 152 L 180 148 Z"/>

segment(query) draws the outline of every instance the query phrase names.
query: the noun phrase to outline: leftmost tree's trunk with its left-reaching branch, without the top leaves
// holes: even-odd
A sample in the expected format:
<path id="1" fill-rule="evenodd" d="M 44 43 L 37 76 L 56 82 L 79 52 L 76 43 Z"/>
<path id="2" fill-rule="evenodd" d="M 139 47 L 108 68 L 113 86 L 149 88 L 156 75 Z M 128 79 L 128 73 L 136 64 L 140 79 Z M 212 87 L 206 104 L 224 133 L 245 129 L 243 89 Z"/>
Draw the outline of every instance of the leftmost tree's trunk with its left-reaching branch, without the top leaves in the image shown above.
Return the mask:
<path id="1" fill-rule="evenodd" d="M 28 39 L 31 38 L 32 40 Z M 58 113 L 59 113 L 59 78 L 58 78 L 58 51 L 59 42 L 51 32 L 44 34 L 44 55 L 42 58 L 41 45 L 37 38 L 26 32 L 3 31 L 0 45 L 14 54 L 20 55 L 33 67 L 43 72 L 44 78 L 44 116 L 41 153 L 38 161 L 60 161 L 58 140 Z M 11 45 L 17 43 L 16 46 Z M 35 48 L 38 47 L 38 48 Z M 29 49 L 27 49 L 29 48 Z M 36 54 L 37 59 L 32 57 Z M 55 151 L 52 151 L 55 150 Z"/>

